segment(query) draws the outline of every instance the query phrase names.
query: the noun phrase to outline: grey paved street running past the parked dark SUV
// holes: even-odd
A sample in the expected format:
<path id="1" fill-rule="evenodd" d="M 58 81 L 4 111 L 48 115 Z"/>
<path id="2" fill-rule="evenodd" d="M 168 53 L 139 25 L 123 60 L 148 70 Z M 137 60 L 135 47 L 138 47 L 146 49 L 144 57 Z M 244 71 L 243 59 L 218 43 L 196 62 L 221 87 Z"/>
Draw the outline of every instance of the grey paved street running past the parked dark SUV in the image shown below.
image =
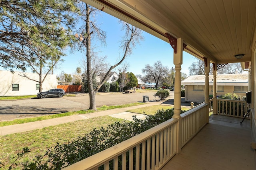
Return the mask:
<path id="1" fill-rule="evenodd" d="M 155 98 L 153 96 L 155 93 L 156 92 L 135 94 L 100 93 L 96 95 L 96 106 L 115 106 L 134 102 L 143 102 L 142 96 L 148 96 L 150 101 L 159 100 L 159 98 Z M 173 96 L 174 92 L 170 92 L 169 98 L 172 99 Z M 4 100 L 0 101 L 0 121 L 63 113 L 67 111 L 78 111 L 88 108 L 88 94 L 79 94 L 77 96 L 63 98 Z"/>

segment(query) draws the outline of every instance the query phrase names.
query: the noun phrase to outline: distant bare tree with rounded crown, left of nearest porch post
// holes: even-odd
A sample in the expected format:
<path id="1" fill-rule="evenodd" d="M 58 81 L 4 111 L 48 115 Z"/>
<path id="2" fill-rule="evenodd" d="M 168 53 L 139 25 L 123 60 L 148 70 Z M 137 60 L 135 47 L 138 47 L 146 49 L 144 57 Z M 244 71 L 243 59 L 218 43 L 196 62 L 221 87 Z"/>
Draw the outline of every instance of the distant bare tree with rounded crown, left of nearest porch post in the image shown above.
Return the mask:
<path id="1" fill-rule="evenodd" d="M 157 61 L 153 66 L 146 64 L 145 68 L 142 69 L 142 72 L 146 73 L 146 76 L 149 78 L 153 78 L 156 82 L 156 88 L 158 88 L 158 83 L 168 74 L 168 70 L 169 68 L 163 66 L 161 61 Z"/>

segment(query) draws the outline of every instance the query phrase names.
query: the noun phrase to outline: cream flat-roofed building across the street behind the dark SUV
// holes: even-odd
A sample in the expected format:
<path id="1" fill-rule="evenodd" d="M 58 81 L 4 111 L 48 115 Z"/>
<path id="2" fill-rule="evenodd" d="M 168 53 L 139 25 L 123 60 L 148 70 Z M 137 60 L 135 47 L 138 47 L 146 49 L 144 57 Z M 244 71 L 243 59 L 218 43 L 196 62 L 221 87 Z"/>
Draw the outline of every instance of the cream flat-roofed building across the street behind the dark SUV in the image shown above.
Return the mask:
<path id="1" fill-rule="evenodd" d="M 1 86 L 0 96 L 25 96 L 35 95 L 39 92 L 39 83 L 28 78 L 22 77 L 22 72 L 14 73 L 6 70 L 0 70 Z M 31 79 L 39 80 L 36 73 L 24 73 Z M 43 75 L 45 76 L 45 75 Z M 43 82 L 43 91 L 56 88 L 56 75 L 48 74 Z"/>

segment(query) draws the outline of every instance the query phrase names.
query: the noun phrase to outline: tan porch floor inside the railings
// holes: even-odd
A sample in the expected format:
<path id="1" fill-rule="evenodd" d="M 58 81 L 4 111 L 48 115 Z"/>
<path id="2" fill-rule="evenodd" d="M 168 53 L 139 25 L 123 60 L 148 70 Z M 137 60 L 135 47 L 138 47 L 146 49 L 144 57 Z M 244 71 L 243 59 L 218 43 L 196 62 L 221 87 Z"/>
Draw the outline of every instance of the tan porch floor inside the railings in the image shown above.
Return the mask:
<path id="1" fill-rule="evenodd" d="M 211 115 L 207 124 L 162 170 L 256 170 L 250 120 Z"/>

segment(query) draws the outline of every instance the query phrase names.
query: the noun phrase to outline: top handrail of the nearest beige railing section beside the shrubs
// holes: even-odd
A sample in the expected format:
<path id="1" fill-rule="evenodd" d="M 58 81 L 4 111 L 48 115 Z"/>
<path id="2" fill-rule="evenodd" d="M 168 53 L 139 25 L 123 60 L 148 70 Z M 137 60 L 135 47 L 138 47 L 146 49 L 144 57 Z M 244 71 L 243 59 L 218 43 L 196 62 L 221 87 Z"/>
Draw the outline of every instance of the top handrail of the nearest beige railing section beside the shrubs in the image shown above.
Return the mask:
<path id="1" fill-rule="evenodd" d="M 105 149 L 101 152 L 98 152 L 88 158 L 85 158 L 84 160 L 80 160 L 79 162 L 76 162 L 75 164 L 72 164 L 63 170 L 87 170 L 87 169 L 92 169 L 94 167 L 100 166 L 104 164 L 104 162 L 107 162 L 110 160 L 110 158 L 115 158 L 116 156 L 119 156 L 120 154 L 124 153 L 127 151 L 127 149 L 131 149 L 143 141 L 146 141 L 150 137 L 156 135 L 162 129 L 165 129 L 169 127 L 170 125 L 173 125 L 174 123 L 177 123 L 178 119 L 169 119 L 159 125 L 156 125 L 155 127 L 148 129 L 147 131 L 144 131 L 140 133 L 139 135 L 136 135 L 126 141 L 123 141 L 121 143 L 118 143 L 114 145 L 113 147 L 110 147 L 108 149 Z M 111 154 L 110 154 L 111 153 Z M 99 162 L 99 155 L 101 161 Z"/>

